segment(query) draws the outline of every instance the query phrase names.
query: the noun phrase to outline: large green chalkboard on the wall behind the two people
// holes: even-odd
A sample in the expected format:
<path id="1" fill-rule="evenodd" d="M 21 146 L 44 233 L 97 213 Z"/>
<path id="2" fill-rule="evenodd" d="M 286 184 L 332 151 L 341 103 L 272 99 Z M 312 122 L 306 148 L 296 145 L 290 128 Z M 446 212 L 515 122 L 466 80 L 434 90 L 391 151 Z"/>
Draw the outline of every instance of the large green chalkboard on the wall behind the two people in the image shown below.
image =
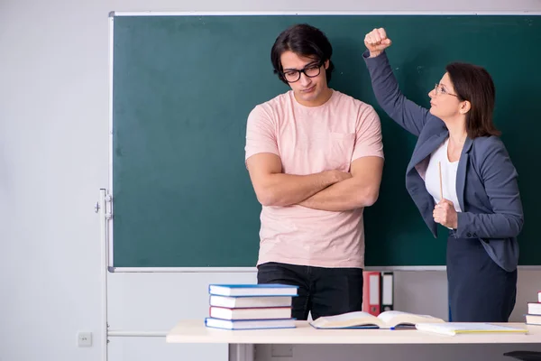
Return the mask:
<path id="1" fill-rule="evenodd" d="M 257 202 L 244 166 L 252 107 L 289 88 L 272 74 L 276 36 L 310 23 L 334 46 L 331 88 L 381 116 L 385 169 L 365 209 L 368 266 L 445 264 L 404 186 L 416 139 L 377 105 L 362 60 L 364 34 L 385 27 L 402 91 L 427 93 L 453 60 L 486 67 L 495 122 L 517 166 L 526 223 L 520 264 L 541 264 L 541 17 L 521 15 L 189 15 L 113 17 L 112 192 L 115 267 L 254 266 Z"/>

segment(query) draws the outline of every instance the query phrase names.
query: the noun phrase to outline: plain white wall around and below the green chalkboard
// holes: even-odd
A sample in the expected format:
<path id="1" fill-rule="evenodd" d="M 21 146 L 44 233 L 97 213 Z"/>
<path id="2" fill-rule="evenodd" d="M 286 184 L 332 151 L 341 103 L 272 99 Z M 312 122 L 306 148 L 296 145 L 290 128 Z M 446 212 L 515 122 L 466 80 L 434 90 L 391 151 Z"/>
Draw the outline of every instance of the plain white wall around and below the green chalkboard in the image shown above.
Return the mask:
<path id="1" fill-rule="evenodd" d="M 541 11 L 536 0 L 0 1 L 0 359 L 95 361 L 103 345 L 99 224 L 107 186 L 109 11 Z M 360 32 L 362 32 L 360 30 Z M 400 273 L 396 304 L 445 316 L 445 273 Z M 214 281 L 253 274 L 113 274 L 112 329 L 167 330 L 202 317 Z M 518 311 L 541 288 L 519 274 Z M 537 283 L 537 284 L 536 284 Z M 432 299 L 427 300 L 426 294 Z M 199 303 L 200 302 L 200 303 Z M 195 309 L 192 310 L 190 305 Z M 78 348 L 76 333 L 94 333 Z M 198 355 L 198 353 L 204 355 Z M 225 359 L 224 347 L 170 346 L 161 338 L 111 339 L 110 359 Z"/>

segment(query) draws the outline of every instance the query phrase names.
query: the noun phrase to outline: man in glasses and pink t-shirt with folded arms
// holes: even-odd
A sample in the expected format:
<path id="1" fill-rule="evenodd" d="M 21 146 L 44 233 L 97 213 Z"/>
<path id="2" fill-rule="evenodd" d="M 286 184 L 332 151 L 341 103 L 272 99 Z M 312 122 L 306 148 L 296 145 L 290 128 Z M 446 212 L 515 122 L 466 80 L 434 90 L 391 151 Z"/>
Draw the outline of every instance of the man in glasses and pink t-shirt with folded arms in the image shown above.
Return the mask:
<path id="1" fill-rule="evenodd" d="M 262 205 L 259 283 L 297 285 L 292 317 L 362 309 L 362 210 L 378 198 L 380 118 L 328 88 L 333 48 L 298 24 L 271 50 L 291 90 L 255 106 L 246 129 L 246 166 Z"/>

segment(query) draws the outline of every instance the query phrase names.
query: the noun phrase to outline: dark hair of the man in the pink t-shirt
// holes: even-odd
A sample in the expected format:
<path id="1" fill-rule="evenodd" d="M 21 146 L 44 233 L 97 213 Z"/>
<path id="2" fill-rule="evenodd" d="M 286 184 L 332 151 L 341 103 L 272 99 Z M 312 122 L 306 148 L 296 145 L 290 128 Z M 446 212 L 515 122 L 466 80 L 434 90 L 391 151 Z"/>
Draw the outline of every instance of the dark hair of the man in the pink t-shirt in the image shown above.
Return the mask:
<path id="1" fill-rule="evenodd" d="M 331 61 L 333 47 L 326 38 L 325 33 L 319 29 L 307 23 L 299 23 L 290 26 L 276 38 L 276 42 L 274 42 L 271 50 L 274 74 L 278 74 L 278 78 L 289 85 L 282 74 L 283 68 L 280 61 L 281 54 L 285 51 L 292 51 L 297 55 L 319 60 L 320 65 L 325 64 L 326 60 L 329 60 L 329 67 L 326 69 L 327 84 L 331 81 L 331 73 L 335 69 L 335 65 Z"/>

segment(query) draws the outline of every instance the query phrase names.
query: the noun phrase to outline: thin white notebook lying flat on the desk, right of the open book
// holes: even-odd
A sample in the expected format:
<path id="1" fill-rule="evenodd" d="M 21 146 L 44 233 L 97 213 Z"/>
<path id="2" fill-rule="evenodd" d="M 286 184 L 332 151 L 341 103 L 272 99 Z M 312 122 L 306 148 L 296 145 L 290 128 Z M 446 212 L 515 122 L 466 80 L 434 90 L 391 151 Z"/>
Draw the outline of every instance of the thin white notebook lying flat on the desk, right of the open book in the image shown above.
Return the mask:
<path id="1" fill-rule="evenodd" d="M 452 336 L 472 333 L 527 333 L 527 329 L 516 329 L 481 322 L 418 323 L 415 327 L 419 331 Z"/>

